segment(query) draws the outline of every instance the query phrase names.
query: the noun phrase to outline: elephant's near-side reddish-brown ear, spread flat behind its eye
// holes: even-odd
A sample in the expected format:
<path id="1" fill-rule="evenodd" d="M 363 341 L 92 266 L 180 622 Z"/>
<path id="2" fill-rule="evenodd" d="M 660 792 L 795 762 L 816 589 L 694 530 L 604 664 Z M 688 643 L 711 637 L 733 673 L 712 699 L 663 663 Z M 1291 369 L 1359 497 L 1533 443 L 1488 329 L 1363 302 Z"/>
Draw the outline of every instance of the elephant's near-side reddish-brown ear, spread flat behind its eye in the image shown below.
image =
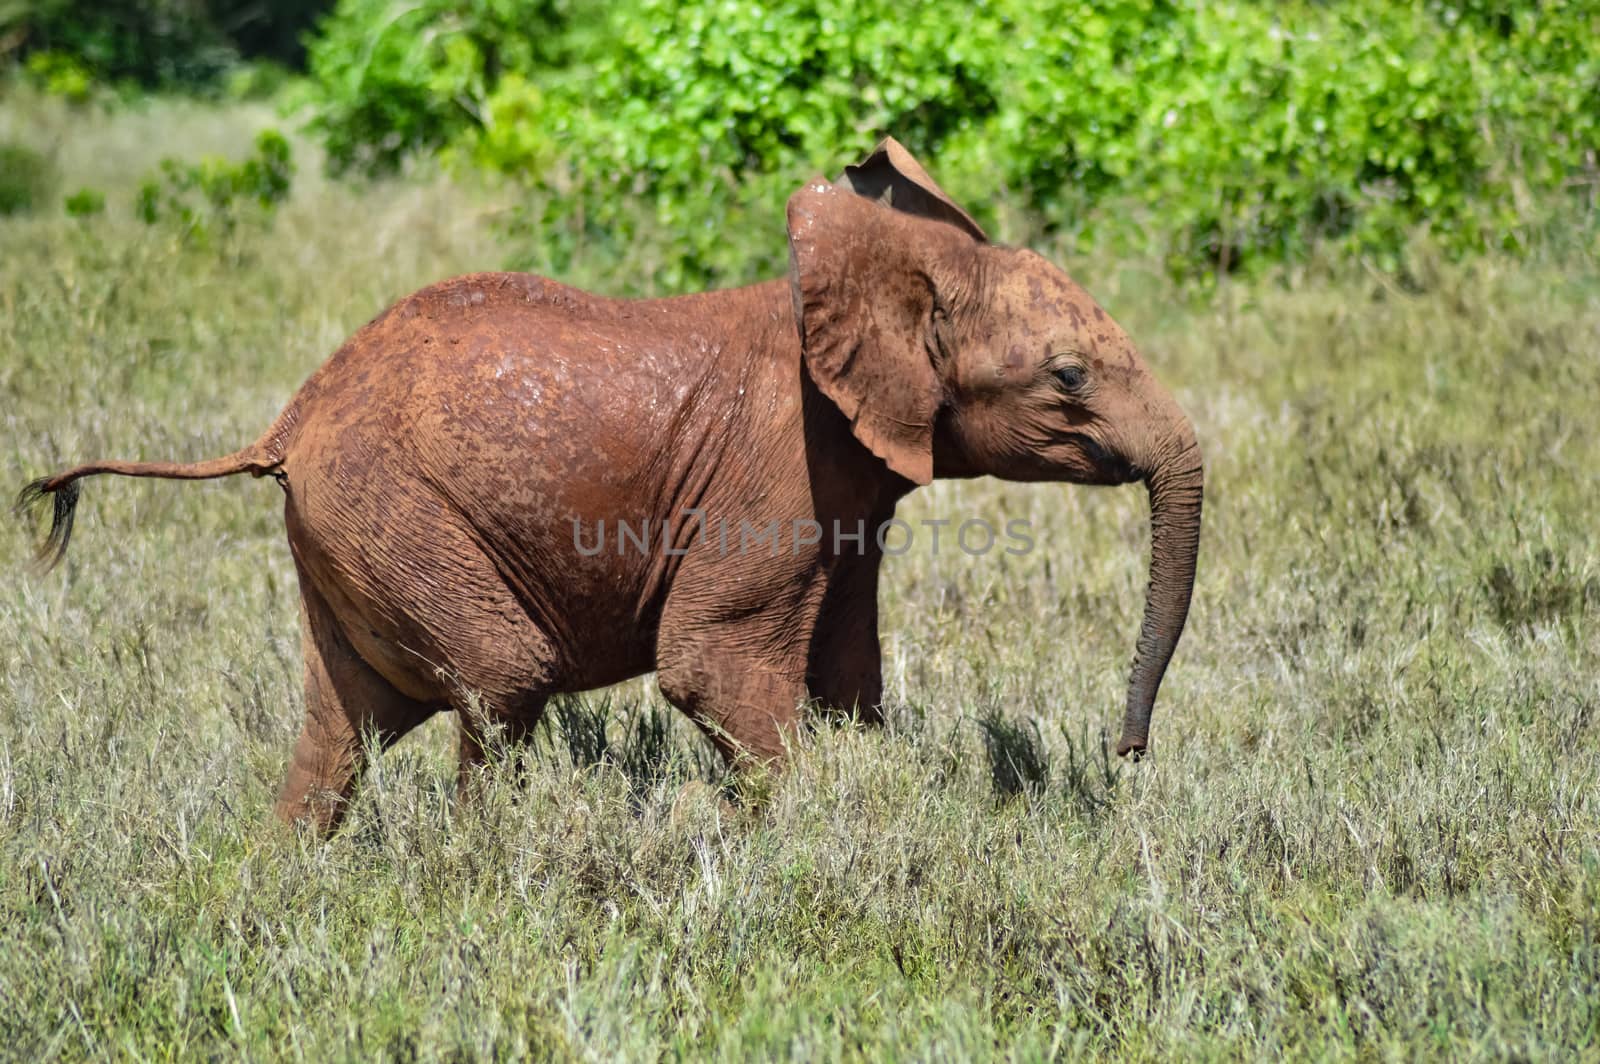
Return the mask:
<path id="1" fill-rule="evenodd" d="M 954 246 L 947 246 L 954 245 Z M 933 480 L 934 277 L 973 242 L 818 179 L 789 197 L 790 293 L 805 368 L 890 469 Z"/>

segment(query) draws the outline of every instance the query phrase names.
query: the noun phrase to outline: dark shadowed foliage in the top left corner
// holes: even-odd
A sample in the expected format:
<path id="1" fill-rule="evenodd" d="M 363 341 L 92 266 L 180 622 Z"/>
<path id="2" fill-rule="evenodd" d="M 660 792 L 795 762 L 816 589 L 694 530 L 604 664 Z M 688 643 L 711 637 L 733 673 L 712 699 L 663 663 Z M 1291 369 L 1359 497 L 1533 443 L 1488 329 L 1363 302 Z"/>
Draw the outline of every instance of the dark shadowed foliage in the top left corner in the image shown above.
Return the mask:
<path id="1" fill-rule="evenodd" d="M 296 66 L 301 35 L 328 0 L 24 0 L 0 6 L 0 38 L 21 40 L 51 93 L 94 83 L 205 88 L 240 59 Z"/>

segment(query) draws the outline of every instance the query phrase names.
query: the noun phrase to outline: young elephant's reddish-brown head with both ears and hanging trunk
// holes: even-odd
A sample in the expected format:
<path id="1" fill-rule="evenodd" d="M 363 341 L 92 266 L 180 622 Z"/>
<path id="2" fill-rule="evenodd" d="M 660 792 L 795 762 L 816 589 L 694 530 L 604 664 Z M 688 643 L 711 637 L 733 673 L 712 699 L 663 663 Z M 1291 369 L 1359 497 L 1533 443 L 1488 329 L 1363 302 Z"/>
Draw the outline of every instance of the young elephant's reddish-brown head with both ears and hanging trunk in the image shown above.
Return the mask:
<path id="1" fill-rule="evenodd" d="M 790 197 L 789 250 L 806 373 L 896 474 L 1146 483 L 1150 579 L 1117 744 L 1142 754 L 1200 542 L 1182 410 L 1086 291 L 989 243 L 893 139 Z"/>

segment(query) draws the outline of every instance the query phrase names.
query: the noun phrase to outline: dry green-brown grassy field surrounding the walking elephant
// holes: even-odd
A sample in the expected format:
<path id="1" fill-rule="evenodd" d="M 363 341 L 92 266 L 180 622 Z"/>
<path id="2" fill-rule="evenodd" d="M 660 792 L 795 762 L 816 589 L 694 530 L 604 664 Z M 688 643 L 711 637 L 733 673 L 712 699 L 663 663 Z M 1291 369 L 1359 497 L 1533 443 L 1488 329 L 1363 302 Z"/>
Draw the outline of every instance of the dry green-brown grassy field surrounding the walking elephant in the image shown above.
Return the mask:
<path id="1" fill-rule="evenodd" d="M 266 120 L 0 107 L 110 203 L 0 219 L 0 483 L 229 451 L 387 301 L 528 253 L 488 194 L 309 157 L 270 229 L 133 219 L 162 154 Z M 278 490 L 99 478 L 50 576 L 0 528 L 0 1056 L 1600 1058 L 1595 245 L 1203 302 L 1040 250 L 1208 458 L 1154 760 L 1102 755 L 1142 493 L 939 483 L 901 515 L 1040 549 L 891 560 L 893 725 L 819 730 L 762 813 L 677 802 L 704 749 L 638 682 L 566 707 L 627 757 L 555 728 L 461 808 L 437 718 L 298 838 Z"/>

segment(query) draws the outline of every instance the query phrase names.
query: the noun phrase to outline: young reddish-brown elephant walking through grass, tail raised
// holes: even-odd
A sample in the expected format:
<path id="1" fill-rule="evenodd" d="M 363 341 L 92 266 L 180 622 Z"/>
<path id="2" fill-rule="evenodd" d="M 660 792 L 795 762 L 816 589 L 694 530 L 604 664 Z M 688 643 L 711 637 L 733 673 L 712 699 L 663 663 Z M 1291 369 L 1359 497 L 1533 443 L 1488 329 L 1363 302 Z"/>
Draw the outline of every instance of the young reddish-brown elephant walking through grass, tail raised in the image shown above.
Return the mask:
<path id="1" fill-rule="evenodd" d="M 466 779 L 490 730 L 517 742 L 550 696 L 651 670 L 736 774 L 779 768 L 811 706 L 882 718 L 870 530 L 907 493 L 1144 482 L 1117 744 L 1141 755 L 1198 554 L 1189 418 L 1083 288 L 992 243 L 893 138 L 794 192 L 787 238 L 786 278 L 722 291 L 613 299 L 510 272 L 422 288 L 234 454 L 30 483 L 19 510 L 53 502 L 38 563 L 66 552 L 83 477 L 275 478 L 306 662 L 275 813 L 330 834 L 368 749 L 432 714 L 456 710 Z M 734 550 L 712 517 L 723 539 L 808 534 Z M 608 522 L 629 549 L 597 536 Z"/>

